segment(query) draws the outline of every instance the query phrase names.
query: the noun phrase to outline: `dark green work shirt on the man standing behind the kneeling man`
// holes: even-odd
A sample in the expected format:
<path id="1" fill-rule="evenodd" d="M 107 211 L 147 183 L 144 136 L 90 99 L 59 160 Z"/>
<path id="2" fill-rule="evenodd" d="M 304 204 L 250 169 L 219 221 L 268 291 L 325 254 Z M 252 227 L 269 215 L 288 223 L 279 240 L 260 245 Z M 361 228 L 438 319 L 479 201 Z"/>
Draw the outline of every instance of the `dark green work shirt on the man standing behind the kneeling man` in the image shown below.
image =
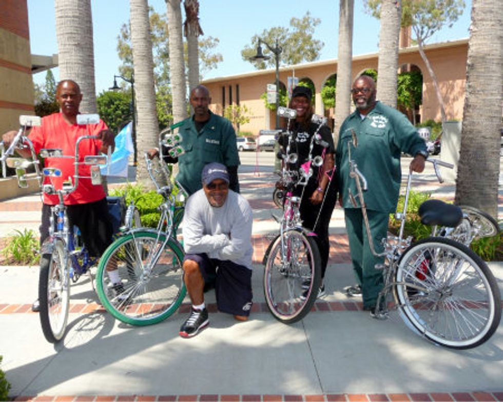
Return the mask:
<path id="1" fill-rule="evenodd" d="M 204 165 L 218 162 L 227 167 L 239 166 L 236 132 L 229 120 L 210 113 L 208 122 L 198 133 L 192 117 L 186 118 L 179 129 L 183 155 L 178 157 L 180 172 L 177 180 L 189 194 L 202 188 Z"/>

